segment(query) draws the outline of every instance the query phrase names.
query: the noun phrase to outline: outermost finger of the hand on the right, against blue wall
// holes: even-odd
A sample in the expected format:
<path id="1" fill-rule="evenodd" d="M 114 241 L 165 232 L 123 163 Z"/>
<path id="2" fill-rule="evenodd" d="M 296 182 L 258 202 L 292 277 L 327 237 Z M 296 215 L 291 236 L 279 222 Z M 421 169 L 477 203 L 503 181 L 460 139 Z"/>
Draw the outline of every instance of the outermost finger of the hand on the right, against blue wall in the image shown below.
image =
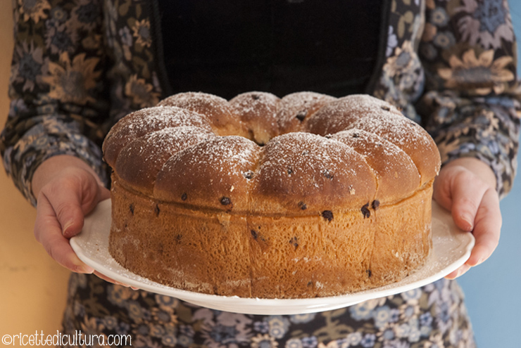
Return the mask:
<path id="1" fill-rule="evenodd" d="M 485 192 L 482 204 L 477 210 L 475 228 L 472 231 L 476 243 L 467 260 L 468 265 L 481 264 L 496 250 L 501 234 L 501 224 L 498 194 L 495 190 L 489 189 Z"/>

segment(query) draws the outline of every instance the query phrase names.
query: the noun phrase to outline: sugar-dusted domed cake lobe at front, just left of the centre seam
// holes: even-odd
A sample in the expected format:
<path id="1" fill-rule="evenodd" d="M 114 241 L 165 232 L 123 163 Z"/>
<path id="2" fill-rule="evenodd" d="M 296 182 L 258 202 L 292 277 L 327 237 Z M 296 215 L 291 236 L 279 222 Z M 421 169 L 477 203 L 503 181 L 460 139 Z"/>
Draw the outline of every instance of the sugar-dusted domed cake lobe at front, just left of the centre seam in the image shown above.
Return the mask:
<path id="1" fill-rule="evenodd" d="M 158 173 L 154 196 L 163 202 L 246 212 L 246 173 L 255 168 L 260 148 L 241 136 L 219 136 L 170 157 Z"/>

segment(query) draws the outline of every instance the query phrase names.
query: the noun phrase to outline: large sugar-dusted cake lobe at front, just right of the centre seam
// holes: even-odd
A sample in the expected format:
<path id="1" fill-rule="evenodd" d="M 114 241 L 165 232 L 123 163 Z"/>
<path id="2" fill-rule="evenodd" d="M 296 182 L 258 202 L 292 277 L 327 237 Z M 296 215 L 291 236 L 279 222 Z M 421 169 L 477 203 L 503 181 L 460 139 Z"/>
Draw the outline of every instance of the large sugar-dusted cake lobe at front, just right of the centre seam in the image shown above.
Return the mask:
<path id="1" fill-rule="evenodd" d="M 332 207 L 361 208 L 375 193 L 372 169 L 352 148 L 314 134 L 289 133 L 263 149 L 253 177 L 251 212 L 315 214 Z"/>

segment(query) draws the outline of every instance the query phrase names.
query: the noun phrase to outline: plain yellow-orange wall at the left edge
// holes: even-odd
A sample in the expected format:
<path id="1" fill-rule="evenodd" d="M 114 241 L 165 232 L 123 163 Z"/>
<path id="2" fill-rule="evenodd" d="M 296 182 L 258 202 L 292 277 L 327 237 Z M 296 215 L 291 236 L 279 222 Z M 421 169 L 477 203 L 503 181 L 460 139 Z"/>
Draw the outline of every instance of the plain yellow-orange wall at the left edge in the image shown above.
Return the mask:
<path id="1" fill-rule="evenodd" d="M 9 105 L 12 33 L 11 1 L 1 0 L 0 128 L 4 128 Z M 54 335 L 61 326 L 69 272 L 34 240 L 36 210 L 0 167 L 0 337 L 32 335 L 35 330 Z"/>

